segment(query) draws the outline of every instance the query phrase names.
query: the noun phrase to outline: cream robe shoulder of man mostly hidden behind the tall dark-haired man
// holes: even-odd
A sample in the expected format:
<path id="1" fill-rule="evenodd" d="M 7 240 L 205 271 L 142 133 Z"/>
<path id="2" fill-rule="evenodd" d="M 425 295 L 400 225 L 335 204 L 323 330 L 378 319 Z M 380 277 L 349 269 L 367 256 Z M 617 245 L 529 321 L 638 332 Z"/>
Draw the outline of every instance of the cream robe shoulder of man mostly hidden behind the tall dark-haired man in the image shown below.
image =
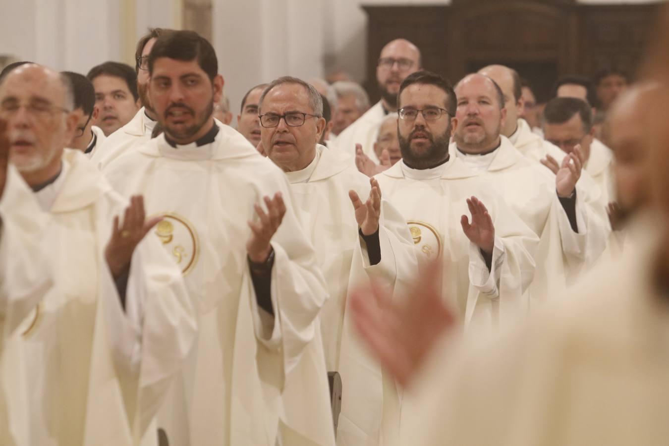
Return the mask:
<path id="1" fill-rule="evenodd" d="M 103 169 L 128 150 L 137 148 L 150 140 L 156 123 L 147 117 L 144 107 L 140 108 L 128 124 L 110 134 L 104 143 L 94 150 L 90 160 L 98 168 Z"/>

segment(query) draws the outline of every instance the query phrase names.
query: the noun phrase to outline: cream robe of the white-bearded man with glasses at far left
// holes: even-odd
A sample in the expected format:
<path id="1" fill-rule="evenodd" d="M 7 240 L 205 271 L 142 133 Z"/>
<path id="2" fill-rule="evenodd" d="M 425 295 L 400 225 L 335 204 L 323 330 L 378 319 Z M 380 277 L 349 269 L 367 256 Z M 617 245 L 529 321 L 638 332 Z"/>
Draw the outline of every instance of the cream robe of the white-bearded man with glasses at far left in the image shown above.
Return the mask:
<path id="1" fill-rule="evenodd" d="M 49 211 L 56 284 L 7 341 L 3 381 L 17 445 L 156 443 L 149 429 L 195 333 L 195 309 L 159 240 L 136 248 L 126 308 L 104 260 L 126 201 L 79 150 L 35 194 Z"/>

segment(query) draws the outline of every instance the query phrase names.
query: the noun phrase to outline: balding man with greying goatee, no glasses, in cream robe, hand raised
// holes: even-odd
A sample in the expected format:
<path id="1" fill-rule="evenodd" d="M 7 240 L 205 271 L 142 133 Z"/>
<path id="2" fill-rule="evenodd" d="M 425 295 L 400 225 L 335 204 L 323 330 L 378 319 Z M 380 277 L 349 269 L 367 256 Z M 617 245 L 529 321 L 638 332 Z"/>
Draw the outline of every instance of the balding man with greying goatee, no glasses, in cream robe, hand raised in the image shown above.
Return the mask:
<path id="1" fill-rule="evenodd" d="M 488 181 L 541 241 L 535 254 L 537 269 L 530 288 L 537 302 L 547 292 L 592 265 L 606 246 L 608 222 L 577 188 L 581 158 L 569 154 L 560 170 L 525 158 L 500 135 L 506 119 L 504 94 L 482 74 L 466 76 L 455 88 L 458 98 L 454 142 L 449 152 Z M 577 149 L 578 150 L 578 149 Z"/>

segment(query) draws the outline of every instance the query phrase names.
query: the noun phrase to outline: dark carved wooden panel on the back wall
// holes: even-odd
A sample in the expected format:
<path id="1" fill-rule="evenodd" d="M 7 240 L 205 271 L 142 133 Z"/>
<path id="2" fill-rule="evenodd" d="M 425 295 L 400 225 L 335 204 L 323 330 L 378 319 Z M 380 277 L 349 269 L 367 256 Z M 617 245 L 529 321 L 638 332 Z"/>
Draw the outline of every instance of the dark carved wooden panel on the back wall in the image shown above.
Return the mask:
<path id="1" fill-rule="evenodd" d="M 369 6 L 366 86 L 378 98 L 385 43 L 413 41 L 423 66 L 452 82 L 484 65 L 511 66 L 546 99 L 559 76 L 605 66 L 633 71 L 658 5 L 581 5 L 575 0 L 454 0 L 444 6 Z"/>

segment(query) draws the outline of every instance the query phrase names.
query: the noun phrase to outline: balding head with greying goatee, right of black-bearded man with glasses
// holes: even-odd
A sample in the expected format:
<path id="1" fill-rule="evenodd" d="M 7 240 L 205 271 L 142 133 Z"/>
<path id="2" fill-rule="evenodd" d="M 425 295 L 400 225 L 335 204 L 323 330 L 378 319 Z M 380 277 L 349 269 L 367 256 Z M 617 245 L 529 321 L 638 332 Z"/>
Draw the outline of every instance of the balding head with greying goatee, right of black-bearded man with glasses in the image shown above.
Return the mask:
<path id="1" fill-rule="evenodd" d="M 458 124 L 453 138 L 458 148 L 470 154 L 493 150 L 499 145 L 506 118 L 499 87 L 488 76 L 470 74 L 458 82 L 455 92 Z"/>

